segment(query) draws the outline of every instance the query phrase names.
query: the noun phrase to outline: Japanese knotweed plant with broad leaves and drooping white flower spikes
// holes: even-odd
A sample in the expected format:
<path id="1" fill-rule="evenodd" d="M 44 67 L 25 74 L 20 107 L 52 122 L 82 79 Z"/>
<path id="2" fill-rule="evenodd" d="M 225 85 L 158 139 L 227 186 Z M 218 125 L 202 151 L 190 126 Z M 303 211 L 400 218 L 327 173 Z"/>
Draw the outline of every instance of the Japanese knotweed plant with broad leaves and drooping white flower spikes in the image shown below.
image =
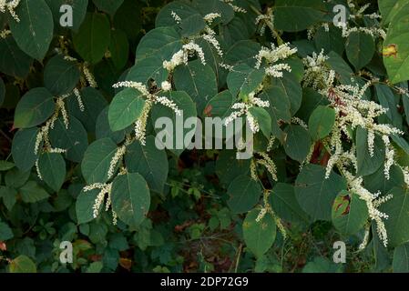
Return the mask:
<path id="1" fill-rule="evenodd" d="M 158 136 L 201 139 L 199 124 L 220 118 L 227 144 L 243 119 L 249 159 L 209 143 L 199 155 L 248 251 L 260 260 L 276 236 L 328 221 L 356 250 L 394 250 L 407 271 L 409 1 L 261 2 L 171 1 L 133 31 L 138 1 L 0 0 L 0 104 L 24 93 L 0 170 L 35 174 L 5 179 L 5 209 L 75 187 L 81 233 L 102 221 L 138 236 L 169 210 L 169 161 L 198 150 Z M 17 227 L 3 220 L 0 242 Z"/>

